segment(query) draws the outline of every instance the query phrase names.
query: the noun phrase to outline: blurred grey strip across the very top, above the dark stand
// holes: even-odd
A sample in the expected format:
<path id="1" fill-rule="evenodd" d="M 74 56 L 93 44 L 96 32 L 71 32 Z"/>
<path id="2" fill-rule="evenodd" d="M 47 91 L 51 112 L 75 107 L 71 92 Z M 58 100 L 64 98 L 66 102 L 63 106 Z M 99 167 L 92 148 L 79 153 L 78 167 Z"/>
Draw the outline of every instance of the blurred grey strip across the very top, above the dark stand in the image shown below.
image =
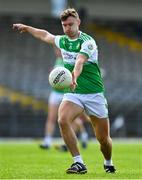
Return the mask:
<path id="1" fill-rule="evenodd" d="M 0 0 L 0 13 L 51 15 L 53 10 L 51 1 Z M 56 4 L 58 4 L 58 1 Z M 68 0 L 66 4 L 67 6 L 75 6 L 78 9 L 85 8 L 91 17 L 142 19 L 141 0 Z"/>

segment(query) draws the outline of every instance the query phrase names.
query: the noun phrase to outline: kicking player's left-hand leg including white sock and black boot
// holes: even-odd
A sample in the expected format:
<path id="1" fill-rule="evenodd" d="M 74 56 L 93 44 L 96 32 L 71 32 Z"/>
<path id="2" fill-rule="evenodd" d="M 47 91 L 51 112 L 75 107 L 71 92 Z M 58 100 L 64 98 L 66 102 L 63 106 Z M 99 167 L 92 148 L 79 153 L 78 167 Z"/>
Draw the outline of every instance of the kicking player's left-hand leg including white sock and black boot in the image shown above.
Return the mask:
<path id="1" fill-rule="evenodd" d="M 76 134 L 72 128 L 72 121 L 83 112 L 83 109 L 69 101 L 64 101 L 59 107 L 58 122 L 61 135 L 67 145 L 74 163 L 67 169 L 67 173 L 86 173 L 87 169 L 84 165 L 82 157 L 77 146 Z"/>

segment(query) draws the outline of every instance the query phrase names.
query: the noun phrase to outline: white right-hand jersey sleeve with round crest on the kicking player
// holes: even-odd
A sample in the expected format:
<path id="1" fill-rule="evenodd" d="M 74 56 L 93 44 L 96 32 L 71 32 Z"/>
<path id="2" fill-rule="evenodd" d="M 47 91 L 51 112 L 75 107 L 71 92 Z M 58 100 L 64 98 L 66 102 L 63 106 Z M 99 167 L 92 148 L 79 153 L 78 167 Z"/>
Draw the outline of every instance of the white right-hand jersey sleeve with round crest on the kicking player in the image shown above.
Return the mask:
<path id="1" fill-rule="evenodd" d="M 82 43 L 80 54 L 84 54 L 87 56 L 87 58 L 90 58 L 90 56 L 97 50 L 97 45 L 94 40 L 87 40 Z"/>

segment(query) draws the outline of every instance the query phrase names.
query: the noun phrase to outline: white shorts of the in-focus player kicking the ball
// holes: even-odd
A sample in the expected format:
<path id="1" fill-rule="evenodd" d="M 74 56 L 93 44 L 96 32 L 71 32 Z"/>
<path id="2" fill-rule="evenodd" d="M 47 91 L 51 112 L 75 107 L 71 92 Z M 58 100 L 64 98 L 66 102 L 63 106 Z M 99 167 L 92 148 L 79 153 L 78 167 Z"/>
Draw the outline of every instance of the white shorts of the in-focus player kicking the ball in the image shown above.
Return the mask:
<path id="1" fill-rule="evenodd" d="M 70 101 L 81 106 L 86 114 L 97 116 L 99 118 L 108 117 L 107 100 L 103 93 L 95 94 L 64 94 L 62 101 Z"/>

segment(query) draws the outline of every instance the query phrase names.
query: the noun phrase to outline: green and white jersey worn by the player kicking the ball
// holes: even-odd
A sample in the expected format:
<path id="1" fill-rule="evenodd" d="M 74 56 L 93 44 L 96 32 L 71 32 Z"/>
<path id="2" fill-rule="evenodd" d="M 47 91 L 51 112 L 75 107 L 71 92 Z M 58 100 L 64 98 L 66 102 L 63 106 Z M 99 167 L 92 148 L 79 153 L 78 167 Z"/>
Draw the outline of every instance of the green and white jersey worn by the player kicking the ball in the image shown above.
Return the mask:
<path id="1" fill-rule="evenodd" d="M 55 37 L 55 44 L 61 49 L 64 66 L 73 70 L 78 54 L 87 56 L 83 70 L 77 79 L 75 93 L 92 94 L 104 91 L 103 81 L 98 66 L 98 49 L 95 40 L 80 31 L 77 39 L 71 40 L 66 35 Z"/>

